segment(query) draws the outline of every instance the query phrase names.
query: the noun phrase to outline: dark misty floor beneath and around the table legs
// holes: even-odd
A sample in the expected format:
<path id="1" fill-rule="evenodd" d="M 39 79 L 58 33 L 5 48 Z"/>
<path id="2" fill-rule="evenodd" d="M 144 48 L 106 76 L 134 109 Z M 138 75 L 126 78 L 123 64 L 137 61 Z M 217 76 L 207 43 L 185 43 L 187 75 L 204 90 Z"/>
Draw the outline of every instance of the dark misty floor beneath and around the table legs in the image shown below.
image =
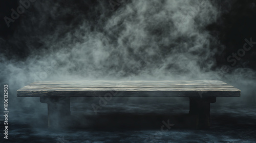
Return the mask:
<path id="1" fill-rule="evenodd" d="M 256 142 L 256 105 L 211 104 L 211 128 L 193 128 L 188 101 L 109 102 L 95 115 L 95 101 L 71 102 L 72 125 L 47 129 L 47 106 L 10 110 L 9 142 Z M 191 120 L 187 120 L 191 119 Z M 162 121 L 175 124 L 160 132 Z M 1 126 L 3 126 L 1 124 Z M 3 127 L 1 127 L 3 128 Z M 166 127 L 164 129 L 167 129 Z M 2 139 L 1 139 L 2 140 Z M 3 140 L 6 141 L 6 140 Z M 2 141 L 1 141 L 2 142 Z"/>

